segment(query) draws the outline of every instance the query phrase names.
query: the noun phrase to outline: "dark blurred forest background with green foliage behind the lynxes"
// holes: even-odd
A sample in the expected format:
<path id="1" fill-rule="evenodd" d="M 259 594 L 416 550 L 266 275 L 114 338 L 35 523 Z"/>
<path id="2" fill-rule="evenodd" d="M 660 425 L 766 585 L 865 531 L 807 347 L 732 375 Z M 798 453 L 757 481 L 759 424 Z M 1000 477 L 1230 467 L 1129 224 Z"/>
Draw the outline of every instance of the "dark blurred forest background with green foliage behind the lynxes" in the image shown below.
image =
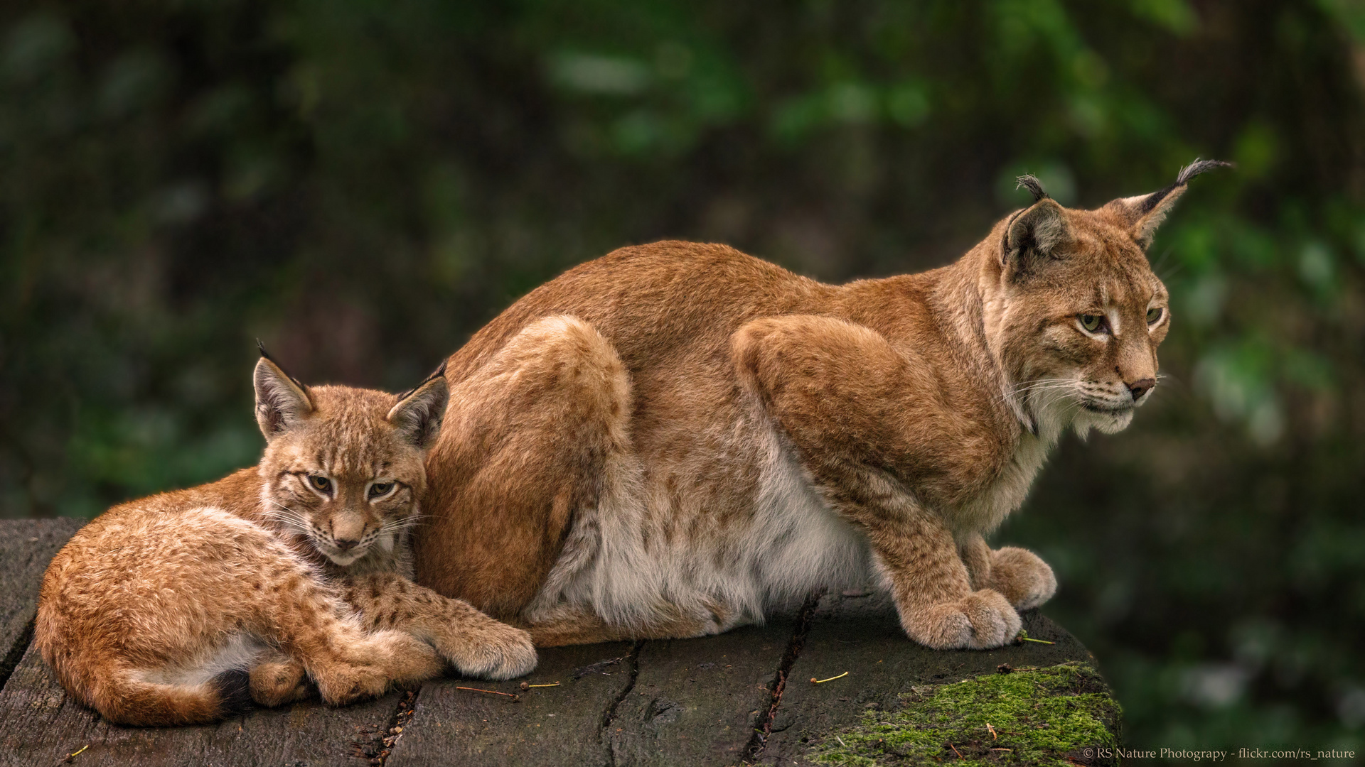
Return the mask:
<path id="1" fill-rule="evenodd" d="M 257 460 L 254 340 L 403 389 L 614 247 L 829 281 L 1028 202 L 1200 177 L 1152 247 L 1170 378 L 995 540 L 1130 745 L 1365 737 L 1358 0 L 128 0 L 0 8 L 0 513 Z"/>

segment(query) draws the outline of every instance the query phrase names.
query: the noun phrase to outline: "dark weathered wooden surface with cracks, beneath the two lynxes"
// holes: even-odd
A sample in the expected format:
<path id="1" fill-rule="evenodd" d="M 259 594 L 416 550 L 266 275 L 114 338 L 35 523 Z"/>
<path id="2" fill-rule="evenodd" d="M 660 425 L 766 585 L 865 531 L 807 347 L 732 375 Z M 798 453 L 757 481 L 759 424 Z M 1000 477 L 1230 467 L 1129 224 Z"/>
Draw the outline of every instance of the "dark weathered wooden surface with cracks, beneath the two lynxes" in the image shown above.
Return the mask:
<path id="1" fill-rule="evenodd" d="M 1036 610 L 1025 628 L 1057 644 L 939 652 L 905 637 L 885 595 L 834 594 L 714 637 L 542 650 L 521 680 L 452 676 L 344 708 L 314 700 L 212 726 L 121 727 L 67 697 L 25 650 L 42 570 L 78 527 L 0 520 L 0 640 L 18 659 L 0 689 L 0 766 L 805 764 L 812 736 L 894 706 L 912 685 L 999 663 L 1093 663 Z"/>

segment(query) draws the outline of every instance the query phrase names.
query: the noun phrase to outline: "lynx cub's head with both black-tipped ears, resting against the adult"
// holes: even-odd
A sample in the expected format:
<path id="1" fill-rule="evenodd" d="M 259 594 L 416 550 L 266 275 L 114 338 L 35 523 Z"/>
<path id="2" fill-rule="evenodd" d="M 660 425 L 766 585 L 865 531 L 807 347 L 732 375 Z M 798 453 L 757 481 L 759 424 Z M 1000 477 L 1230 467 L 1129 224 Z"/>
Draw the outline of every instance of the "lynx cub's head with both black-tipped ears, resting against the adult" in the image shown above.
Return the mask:
<path id="1" fill-rule="evenodd" d="M 262 495 L 274 519 L 341 566 L 392 551 L 426 489 L 423 456 L 441 427 L 444 375 L 394 397 L 306 388 L 262 358 L 255 384 L 268 439 Z"/>

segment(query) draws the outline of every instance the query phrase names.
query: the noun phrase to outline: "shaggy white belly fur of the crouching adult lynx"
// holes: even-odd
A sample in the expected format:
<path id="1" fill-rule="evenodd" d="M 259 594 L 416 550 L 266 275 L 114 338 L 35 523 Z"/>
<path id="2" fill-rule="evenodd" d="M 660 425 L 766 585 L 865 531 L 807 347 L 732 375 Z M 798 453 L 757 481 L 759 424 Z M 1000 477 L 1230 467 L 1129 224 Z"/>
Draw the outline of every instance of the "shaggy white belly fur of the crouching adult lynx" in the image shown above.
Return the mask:
<path id="1" fill-rule="evenodd" d="M 662 530 L 643 534 L 646 520 L 667 519 L 667 494 L 646 489 L 637 467 L 609 469 L 602 505 L 579 516 L 523 616 L 541 622 L 568 607 L 639 626 L 681 611 L 700 621 L 700 633 L 719 633 L 762 622 L 812 588 L 867 583 L 865 536 L 824 505 L 771 427 L 760 456 L 756 504 L 743 528 L 672 543 Z M 646 515 L 651 504 L 663 506 Z"/>

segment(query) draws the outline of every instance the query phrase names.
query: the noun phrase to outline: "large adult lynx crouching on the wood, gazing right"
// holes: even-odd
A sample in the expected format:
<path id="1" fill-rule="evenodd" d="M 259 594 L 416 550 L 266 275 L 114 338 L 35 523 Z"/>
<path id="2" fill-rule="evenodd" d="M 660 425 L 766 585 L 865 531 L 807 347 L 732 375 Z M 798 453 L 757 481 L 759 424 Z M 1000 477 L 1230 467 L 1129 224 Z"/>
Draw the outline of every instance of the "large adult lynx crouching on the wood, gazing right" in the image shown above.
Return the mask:
<path id="1" fill-rule="evenodd" d="M 1144 250 L 1188 182 L 1035 203 L 958 262 L 842 287 L 725 246 L 628 247 L 448 360 L 418 581 L 538 644 L 715 633 L 878 579 L 930 647 L 995 647 L 1051 568 L 983 535 L 1066 429 L 1156 386 Z"/>

